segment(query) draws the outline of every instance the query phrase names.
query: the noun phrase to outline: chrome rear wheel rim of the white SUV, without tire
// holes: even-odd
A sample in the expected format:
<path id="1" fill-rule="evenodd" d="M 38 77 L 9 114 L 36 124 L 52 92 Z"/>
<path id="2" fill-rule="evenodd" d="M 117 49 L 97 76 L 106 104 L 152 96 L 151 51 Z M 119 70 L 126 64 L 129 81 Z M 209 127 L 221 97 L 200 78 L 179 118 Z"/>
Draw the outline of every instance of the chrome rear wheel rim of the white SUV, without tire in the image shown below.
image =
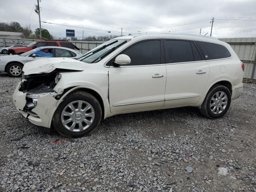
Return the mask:
<path id="1" fill-rule="evenodd" d="M 222 113 L 228 104 L 228 96 L 223 91 L 218 91 L 212 96 L 210 109 L 214 114 Z"/>

